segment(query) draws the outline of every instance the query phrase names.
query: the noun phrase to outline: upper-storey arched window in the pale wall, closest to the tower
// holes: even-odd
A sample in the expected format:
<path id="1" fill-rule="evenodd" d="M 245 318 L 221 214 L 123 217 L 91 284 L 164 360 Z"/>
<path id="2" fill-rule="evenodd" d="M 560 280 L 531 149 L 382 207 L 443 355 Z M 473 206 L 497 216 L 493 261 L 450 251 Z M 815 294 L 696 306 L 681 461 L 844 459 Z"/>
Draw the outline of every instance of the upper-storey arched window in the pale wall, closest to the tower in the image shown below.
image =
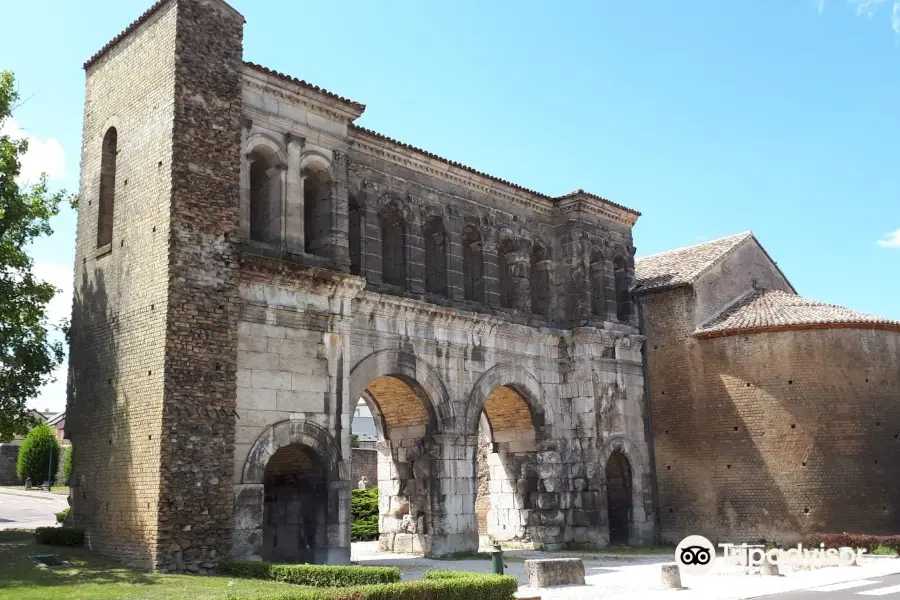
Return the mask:
<path id="1" fill-rule="evenodd" d="M 277 244 L 281 239 L 281 171 L 277 156 L 263 146 L 250 154 L 250 240 Z"/>

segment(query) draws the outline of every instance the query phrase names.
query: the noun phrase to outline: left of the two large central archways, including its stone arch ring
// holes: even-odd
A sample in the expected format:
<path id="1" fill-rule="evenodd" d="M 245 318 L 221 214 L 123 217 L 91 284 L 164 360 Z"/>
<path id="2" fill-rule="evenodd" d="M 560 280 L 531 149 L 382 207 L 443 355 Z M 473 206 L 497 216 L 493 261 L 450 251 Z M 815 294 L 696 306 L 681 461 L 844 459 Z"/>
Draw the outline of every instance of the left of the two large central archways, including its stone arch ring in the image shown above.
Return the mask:
<path id="1" fill-rule="evenodd" d="M 443 463 L 434 459 L 437 434 L 455 420 L 446 388 L 412 353 L 383 350 L 353 367 L 349 397 L 364 399 L 379 437 L 379 547 L 430 554 L 445 533 L 436 528 L 445 521 Z"/>

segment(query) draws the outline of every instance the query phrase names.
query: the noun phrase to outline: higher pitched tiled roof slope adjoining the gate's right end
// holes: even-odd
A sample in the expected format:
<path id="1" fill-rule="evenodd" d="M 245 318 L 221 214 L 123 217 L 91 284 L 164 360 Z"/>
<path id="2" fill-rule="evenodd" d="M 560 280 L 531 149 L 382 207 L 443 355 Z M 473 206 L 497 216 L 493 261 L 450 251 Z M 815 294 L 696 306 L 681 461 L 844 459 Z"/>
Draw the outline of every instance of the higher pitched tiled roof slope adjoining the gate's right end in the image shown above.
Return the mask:
<path id="1" fill-rule="evenodd" d="M 690 285 L 744 240 L 751 238 L 753 238 L 753 233 L 745 231 L 711 242 L 636 258 L 634 265 L 635 291 L 644 292 Z"/>

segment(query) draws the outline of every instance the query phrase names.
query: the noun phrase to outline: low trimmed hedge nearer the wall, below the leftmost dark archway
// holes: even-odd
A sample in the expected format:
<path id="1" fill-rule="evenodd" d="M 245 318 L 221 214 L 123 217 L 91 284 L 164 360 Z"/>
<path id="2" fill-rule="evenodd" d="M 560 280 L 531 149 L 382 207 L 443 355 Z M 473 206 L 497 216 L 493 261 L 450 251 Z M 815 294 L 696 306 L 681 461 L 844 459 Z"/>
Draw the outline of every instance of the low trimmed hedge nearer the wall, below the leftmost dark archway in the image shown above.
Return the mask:
<path id="1" fill-rule="evenodd" d="M 330 565 L 280 565 L 259 560 L 229 560 L 219 563 L 223 575 L 249 579 L 274 579 L 311 587 L 350 587 L 400 581 L 397 567 L 337 567 Z"/>

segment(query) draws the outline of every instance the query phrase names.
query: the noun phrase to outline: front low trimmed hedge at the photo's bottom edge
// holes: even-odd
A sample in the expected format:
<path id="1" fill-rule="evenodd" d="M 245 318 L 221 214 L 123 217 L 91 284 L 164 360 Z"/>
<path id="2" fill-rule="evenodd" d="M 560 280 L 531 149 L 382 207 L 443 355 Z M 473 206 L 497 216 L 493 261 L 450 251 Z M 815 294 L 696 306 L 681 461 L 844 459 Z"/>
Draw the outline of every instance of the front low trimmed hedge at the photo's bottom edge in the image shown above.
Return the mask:
<path id="1" fill-rule="evenodd" d="M 432 571 L 425 573 L 425 579 L 419 581 L 348 588 L 302 588 L 253 598 L 254 600 L 513 600 L 518 587 L 516 578 L 509 575 Z"/>

